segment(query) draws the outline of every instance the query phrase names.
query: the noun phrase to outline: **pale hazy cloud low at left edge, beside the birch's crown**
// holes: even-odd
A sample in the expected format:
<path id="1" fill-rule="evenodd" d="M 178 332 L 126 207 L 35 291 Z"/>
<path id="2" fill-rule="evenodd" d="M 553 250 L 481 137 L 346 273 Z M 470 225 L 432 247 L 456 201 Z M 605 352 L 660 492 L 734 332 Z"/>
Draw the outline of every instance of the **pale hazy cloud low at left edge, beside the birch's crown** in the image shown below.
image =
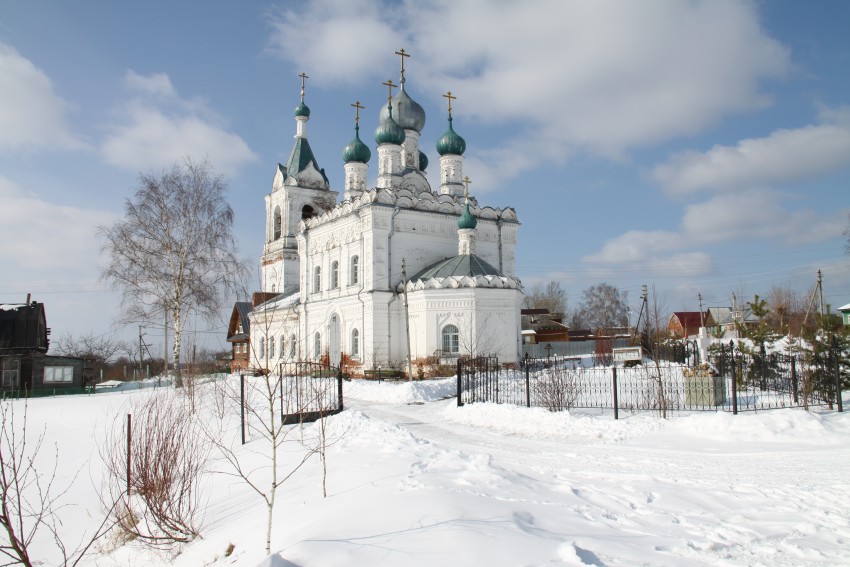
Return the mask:
<path id="1" fill-rule="evenodd" d="M 93 281 L 100 249 L 96 227 L 115 218 L 105 211 L 49 203 L 0 176 L 0 265 L 7 274 L 29 279 L 37 274 L 56 282 L 86 274 Z"/>

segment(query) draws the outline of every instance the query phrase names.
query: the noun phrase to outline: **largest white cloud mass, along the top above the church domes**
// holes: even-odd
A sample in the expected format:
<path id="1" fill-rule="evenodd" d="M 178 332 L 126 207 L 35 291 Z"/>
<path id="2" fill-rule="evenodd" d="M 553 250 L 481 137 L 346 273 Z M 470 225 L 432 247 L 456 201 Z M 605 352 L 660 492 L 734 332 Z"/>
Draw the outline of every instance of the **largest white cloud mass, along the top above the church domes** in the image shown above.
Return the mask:
<path id="1" fill-rule="evenodd" d="M 451 89 L 456 113 L 519 124 L 515 143 L 606 156 L 764 107 L 759 81 L 790 65 L 754 4 L 707 0 L 323 0 L 274 16 L 271 43 L 319 84 L 385 78 L 404 46 L 415 96 Z"/>

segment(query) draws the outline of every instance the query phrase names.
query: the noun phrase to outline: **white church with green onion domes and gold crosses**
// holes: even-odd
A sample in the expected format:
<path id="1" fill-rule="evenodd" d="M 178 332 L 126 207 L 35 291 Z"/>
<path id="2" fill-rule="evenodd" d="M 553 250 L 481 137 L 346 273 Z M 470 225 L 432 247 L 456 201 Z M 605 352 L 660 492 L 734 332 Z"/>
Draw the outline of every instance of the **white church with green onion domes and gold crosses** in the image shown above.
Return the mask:
<path id="1" fill-rule="evenodd" d="M 469 197 L 466 142 L 452 128 L 451 92 L 443 95 L 448 126 L 436 144 L 440 187 L 432 189 L 419 148 L 425 112 L 405 90 L 406 54 L 398 54 L 401 79 L 384 83 L 390 96 L 378 117 L 372 174 L 372 151 L 360 139 L 363 107 L 352 105 L 354 139 L 342 150 L 341 200 L 308 142 L 301 75 L 295 143 L 265 197 L 263 293 L 255 297 L 267 301 L 244 310 L 251 367 L 296 360 L 337 365 L 344 355 L 362 368 L 404 372 L 411 360 L 434 356 L 519 358 L 516 212 Z"/>

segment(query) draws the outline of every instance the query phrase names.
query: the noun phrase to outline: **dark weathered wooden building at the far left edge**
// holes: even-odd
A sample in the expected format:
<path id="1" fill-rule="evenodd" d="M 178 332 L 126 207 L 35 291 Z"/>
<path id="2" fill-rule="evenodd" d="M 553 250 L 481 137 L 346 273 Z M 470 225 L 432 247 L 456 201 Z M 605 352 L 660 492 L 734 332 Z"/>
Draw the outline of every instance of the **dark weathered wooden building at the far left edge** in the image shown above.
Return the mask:
<path id="1" fill-rule="evenodd" d="M 35 392 L 81 388 L 93 381 L 89 361 L 49 356 L 44 304 L 0 304 L 0 390 Z"/>

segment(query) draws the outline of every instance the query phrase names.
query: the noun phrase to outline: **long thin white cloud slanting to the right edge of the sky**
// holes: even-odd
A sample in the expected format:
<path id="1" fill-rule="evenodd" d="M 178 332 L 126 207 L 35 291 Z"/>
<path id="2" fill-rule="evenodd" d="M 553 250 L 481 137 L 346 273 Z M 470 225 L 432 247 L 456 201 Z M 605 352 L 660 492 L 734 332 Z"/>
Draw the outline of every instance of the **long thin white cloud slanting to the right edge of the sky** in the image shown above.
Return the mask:
<path id="1" fill-rule="evenodd" d="M 653 177 L 668 193 L 687 194 L 794 183 L 848 167 L 850 110 L 823 109 L 821 116 L 830 123 L 676 154 Z"/>

